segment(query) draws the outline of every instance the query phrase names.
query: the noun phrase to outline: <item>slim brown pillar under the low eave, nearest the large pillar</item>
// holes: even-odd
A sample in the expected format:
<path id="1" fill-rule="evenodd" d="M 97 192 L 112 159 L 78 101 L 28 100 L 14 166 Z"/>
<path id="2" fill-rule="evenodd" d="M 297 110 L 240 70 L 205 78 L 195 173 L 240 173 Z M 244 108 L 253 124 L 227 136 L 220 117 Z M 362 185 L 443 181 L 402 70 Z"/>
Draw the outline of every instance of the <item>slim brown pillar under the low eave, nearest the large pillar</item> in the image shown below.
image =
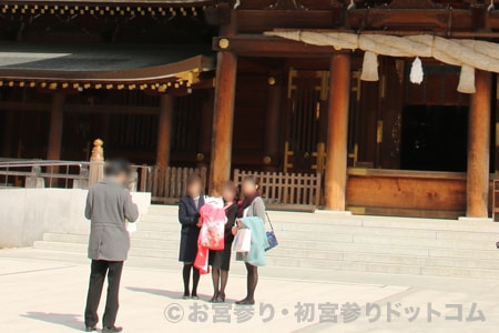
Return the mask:
<path id="1" fill-rule="evenodd" d="M 160 119 L 157 125 L 157 167 L 166 168 L 170 165 L 173 108 L 174 98 L 171 94 L 162 94 L 160 100 Z"/>

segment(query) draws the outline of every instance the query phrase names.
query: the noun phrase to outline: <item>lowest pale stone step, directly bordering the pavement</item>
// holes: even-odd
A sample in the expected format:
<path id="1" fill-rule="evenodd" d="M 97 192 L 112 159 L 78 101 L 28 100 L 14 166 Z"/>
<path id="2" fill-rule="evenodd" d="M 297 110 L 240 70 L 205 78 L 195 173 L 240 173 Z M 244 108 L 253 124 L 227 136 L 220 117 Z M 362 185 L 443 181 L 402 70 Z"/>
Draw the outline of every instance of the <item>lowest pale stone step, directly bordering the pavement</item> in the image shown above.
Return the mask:
<path id="1" fill-rule="evenodd" d="M 62 242 L 35 242 L 35 249 L 86 253 L 86 244 Z M 297 268 L 314 270 L 344 270 L 365 271 L 374 273 L 411 274 L 411 275 L 442 275 L 465 278 L 499 278 L 499 263 L 497 261 L 477 260 L 450 260 L 447 258 L 428 259 L 420 256 L 381 255 L 371 253 L 340 253 L 340 252 L 314 252 L 297 250 L 275 249 L 269 253 L 267 261 L 269 266 Z M 287 256 L 285 254 L 288 254 Z M 175 250 L 132 248 L 130 261 L 159 260 L 161 262 L 175 263 Z M 293 255 L 292 255 L 293 254 Z"/>

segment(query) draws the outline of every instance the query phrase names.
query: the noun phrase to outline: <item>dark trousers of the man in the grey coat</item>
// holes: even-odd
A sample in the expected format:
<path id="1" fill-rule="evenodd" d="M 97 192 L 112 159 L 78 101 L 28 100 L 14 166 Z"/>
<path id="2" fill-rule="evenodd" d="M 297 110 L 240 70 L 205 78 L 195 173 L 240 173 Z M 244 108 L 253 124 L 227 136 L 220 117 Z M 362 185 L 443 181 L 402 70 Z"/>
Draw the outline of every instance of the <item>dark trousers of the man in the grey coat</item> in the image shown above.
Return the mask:
<path id="1" fill-rule="evenodd" d="M 89 294 L 86 296 L 85 326 L 94 327 L 99 323 L 99 301 L 101 300 L 102 287 L 105 274 L 108 273 L 108 299 L 105 301 L 104 316 L 102 319 L 104 327 L 112 327 L 116 321 L 119 307 L 119 292 L 122 261 L 92 260 L 90 273 Z"/>

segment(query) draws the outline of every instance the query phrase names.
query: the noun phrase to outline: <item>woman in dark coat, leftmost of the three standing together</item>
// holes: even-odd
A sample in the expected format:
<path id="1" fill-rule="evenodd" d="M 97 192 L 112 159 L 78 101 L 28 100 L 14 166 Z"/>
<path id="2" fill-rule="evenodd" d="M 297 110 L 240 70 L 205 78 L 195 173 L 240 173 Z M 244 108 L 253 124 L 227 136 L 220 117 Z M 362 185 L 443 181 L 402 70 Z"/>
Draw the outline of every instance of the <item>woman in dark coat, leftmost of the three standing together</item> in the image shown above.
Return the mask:
<path id="1" fill-rule="evenodd" d="M 179 221 L 182 224 L 181 244 L 179 261 L 184 263 L 182 276 L 184 280 L 184 299 L 197 300 L 197 284 L 200 282 L 200 271 L 193 266 L 197 254 L 197 238 L 200 236 L 200 209 L 204 204 L 201 195 L 202 180 L 193 174 L 187 179 L 189 195 L 182 196 L 179 204 Z M 192 293 L 190 292 L 191 270 L 193 271 Z"/>

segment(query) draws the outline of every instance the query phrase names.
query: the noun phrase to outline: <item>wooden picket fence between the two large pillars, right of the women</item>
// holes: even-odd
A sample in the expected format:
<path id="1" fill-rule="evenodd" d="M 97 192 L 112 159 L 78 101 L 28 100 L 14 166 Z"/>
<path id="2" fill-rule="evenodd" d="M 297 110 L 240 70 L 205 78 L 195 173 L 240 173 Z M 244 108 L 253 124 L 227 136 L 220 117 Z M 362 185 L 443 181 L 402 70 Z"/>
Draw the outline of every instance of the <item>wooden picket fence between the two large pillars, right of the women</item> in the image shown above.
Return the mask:
<path id="1" fill-rule="evenodd" d="M 320 174 L 234 170 L 240 185 L 247 175 L 259 179 L 262 198 L 271 209 L 314 211 L 320 201 Z"/>

